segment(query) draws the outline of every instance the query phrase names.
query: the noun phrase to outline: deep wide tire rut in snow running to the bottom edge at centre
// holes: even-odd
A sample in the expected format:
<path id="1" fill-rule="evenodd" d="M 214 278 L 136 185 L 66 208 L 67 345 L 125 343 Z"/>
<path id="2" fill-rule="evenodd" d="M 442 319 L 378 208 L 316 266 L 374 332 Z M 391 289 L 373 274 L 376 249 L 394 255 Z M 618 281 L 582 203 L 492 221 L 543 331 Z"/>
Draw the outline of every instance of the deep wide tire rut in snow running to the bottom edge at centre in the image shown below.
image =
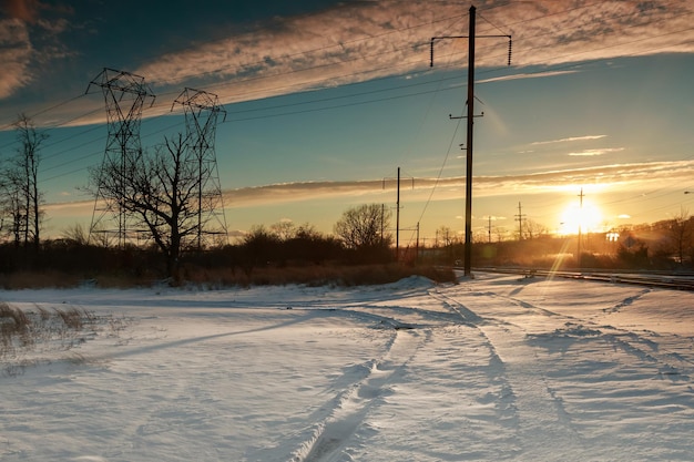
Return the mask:
<path id="1" fill-rule="evenodd" d="M 385 355 L 361 366 L 368 367 L 364 379 L 338 394 L 330 415 L 317 423 L 313 438 L 295 451 L 292 462 L 329 462 L 343 455 L 370 409 L 391 393 L 390 384 L 428 339 L 421 330 L 396 327 L 394 332 Z"/>

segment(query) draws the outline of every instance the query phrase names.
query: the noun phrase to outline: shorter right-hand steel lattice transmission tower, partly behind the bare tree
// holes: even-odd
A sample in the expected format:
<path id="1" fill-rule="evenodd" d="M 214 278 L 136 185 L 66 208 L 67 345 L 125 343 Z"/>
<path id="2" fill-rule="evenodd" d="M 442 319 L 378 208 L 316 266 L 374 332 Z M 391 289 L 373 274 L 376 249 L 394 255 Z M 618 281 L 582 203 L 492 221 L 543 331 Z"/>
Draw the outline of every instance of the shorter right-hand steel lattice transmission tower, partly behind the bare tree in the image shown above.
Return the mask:
<path id="1" fill-rule="evenodd" d="M 228 240 L 215 154 L 217 119 L 220 113 L 226 119 L 226 111 L 216 94 L 191 88 L 185 88 L 174 100 L 172 111 L 176 104 L 185 113 L 186 147 L 192 150 L 186 158 L 196 163 L 198 173 L 196 246 L 201 250 L 208 244 Z"/>

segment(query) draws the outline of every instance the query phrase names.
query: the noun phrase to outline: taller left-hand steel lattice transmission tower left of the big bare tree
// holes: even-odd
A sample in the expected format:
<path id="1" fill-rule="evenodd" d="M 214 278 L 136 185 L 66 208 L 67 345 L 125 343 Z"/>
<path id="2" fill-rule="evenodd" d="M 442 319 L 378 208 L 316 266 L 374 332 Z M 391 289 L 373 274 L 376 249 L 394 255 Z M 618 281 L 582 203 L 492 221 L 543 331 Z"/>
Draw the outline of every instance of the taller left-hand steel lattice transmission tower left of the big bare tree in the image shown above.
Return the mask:
<path id="1" fill-rule="evenodd" d="M 146 100 L 154 104 L 154 94 L 145 84 L 144 78 L 130 72 L 104 68 L 86 88 L 86 92 L 95 85 L 100 86 L 106 104 L 106 123 L 109 136 L 101 173 L 119 172 L 115 178 L 116 192 L 106 194 L 104 179 L 100 177 L 96 185 L 96 198 L 90 226 L 90 240 L 94 233 L 103 233 L 104 239 L 115 235 L 118 244 L 123 247 L 131 239 L 133 229 L 129 226 L 129 215 L 123 207 L 126 193 L 122 178 L 136 168 L 142 162 L 140 143 L 140 125 L 142 109 Z"/>

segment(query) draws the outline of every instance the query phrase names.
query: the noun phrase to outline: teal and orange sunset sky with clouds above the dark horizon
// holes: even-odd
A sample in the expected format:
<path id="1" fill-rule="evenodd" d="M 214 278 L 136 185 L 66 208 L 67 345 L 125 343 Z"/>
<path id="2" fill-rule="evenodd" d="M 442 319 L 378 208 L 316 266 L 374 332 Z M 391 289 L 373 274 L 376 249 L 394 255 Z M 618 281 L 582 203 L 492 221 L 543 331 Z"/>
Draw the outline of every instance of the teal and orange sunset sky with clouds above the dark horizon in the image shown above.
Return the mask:
<path id="1" fill-rule="evenodd" d="M 184 88 L 218 95 L 228 229 L 280 220 L 324 233 L 350 206 L 394 208 L 400 242 L 465 215 L 465 39 L 469 2 L 31 1 L 0 3 L 0 158 L 30 116 L 41 151 L 47 234 L 89 226 L 82 192 L 106 142 L 104 68 L 156 96 L 142 145 L 185 130 Z M 694 2 L 477 1 L 473 232 L 518 215 L 569 232 L 579 194 L 594 228 L 694 213 Z M 86 92 L 88 88 L 90 91 Z M 99 91 L 96 91 L 99 90 Z M 519 209 L 520 204 L 520 209 Z M 494 237 L 496 238 L 496 237 Z"/>

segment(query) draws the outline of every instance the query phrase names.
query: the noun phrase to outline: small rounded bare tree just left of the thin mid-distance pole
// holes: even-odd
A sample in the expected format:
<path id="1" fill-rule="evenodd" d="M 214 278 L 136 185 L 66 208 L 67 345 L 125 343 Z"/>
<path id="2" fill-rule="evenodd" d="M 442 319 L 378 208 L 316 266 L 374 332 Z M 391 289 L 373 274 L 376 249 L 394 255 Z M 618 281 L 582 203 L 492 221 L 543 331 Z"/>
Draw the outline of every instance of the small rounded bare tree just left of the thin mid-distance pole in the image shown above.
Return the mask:
<path id="1" fill-rule="evenodd" d="M 335 224 L 335 234 L 349 248 L 370 249 L 387 247 L 392 240 L 391 212 L 380 204 L 364 204 L 347 209 Z"/>

